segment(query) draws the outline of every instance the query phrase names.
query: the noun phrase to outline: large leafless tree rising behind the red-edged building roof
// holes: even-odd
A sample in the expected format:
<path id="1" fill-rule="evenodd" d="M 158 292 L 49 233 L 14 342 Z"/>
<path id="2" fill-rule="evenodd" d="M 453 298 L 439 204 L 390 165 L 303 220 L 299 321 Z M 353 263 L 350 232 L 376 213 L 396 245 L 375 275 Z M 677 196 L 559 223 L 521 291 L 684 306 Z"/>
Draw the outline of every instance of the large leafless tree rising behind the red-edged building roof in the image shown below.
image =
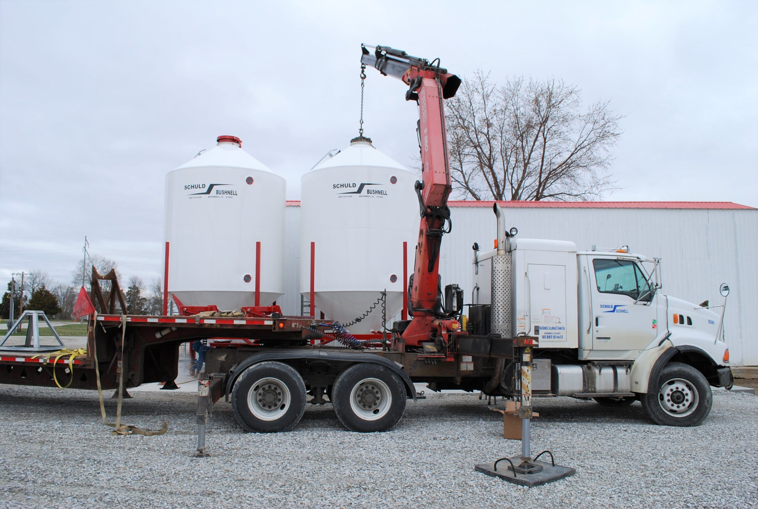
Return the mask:
<path id="1" fill-rule="evenodd" d="M 481 71 L 449 101 L 448 148 L 458 194 L 474 200 L 590 200 L 606 174 L 619 120 L 608 102 L 582 108 L 562 80 L 504 86 Z"/>

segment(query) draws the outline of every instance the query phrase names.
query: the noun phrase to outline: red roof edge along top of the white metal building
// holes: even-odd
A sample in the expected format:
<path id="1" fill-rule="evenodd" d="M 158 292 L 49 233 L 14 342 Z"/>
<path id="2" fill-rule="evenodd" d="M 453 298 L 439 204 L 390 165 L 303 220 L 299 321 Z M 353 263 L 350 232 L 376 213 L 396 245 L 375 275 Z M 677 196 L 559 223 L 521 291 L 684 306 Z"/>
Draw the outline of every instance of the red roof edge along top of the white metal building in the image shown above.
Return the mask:
<path id="1" fill-rule="evenodd" d="M 451 207 L 491 207 L 493 200 L 450 200 Z M 738 209 L 754 207 L 732 202 L 515 202 L 499 201 L 501 207 L 512 209 Z M 287 200 L 288 207 L 299 207 L 299 200 Z"/>

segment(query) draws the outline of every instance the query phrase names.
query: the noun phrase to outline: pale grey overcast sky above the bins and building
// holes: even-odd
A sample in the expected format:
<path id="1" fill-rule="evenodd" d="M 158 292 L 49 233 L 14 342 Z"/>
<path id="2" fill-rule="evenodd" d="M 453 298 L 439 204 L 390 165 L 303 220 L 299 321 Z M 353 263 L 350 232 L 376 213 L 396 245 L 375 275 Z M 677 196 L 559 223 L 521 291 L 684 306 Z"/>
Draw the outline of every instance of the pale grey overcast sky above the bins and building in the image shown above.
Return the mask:
<path id="1" fill-rule="evenodd" d="M 606 200 L 758 207 L 758 2 L 0 0 L 2 290 L 22 270 L 70 282 L 85 235 L 124 278 L 160 275 L 164 176 L 220 134 L 298 200 L 357 135 L 361 42 L 609 99 Z M 418 112 L 367 74 L 365 134 L 409 165 Z"/>

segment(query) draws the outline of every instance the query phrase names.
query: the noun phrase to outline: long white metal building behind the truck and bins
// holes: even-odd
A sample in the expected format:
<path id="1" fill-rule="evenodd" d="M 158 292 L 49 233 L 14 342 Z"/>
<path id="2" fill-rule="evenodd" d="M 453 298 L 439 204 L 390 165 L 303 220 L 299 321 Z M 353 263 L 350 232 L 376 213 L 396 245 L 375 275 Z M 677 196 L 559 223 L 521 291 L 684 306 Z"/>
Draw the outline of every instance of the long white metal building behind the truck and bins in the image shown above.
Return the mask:
<path id="1" fill-rule="evenodd" d="M 453 231 L 443 237 L 443 284 L 471 291 L 471 246 L 493 247 L 493 202 L 451 202 Z M 632 253 L 662 259 L 662 292 L 701 303 L 723 303 L 733 366 L 758 365 L 758 209 L 729 202 L 500 202 L 518 237 L 571 240 L 579 250 L 628 245 Z M 299 202 L 287 202 L 283 312 L 300 313 Z M 413 260 L 409 259 L 409 273 Z M 719 313 L 719 309 L 714 309 Z"/>

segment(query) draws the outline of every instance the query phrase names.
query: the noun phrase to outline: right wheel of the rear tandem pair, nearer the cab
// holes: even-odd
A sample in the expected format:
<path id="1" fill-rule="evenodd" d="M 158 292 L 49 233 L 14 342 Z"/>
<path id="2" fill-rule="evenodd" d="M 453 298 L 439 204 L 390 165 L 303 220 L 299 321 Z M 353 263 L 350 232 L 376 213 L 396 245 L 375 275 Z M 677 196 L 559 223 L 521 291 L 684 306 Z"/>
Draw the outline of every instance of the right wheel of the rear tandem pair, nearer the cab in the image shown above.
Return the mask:
<path id="1" fill-rule="evenodd" d="M 332 389 L 337 419 L 350 431 L 392 429 L 406 411 L 406 387 L 392 370 L 371 363 L 345 369 Z M 355 401 L 352 401 L 355 399 Z"/>

